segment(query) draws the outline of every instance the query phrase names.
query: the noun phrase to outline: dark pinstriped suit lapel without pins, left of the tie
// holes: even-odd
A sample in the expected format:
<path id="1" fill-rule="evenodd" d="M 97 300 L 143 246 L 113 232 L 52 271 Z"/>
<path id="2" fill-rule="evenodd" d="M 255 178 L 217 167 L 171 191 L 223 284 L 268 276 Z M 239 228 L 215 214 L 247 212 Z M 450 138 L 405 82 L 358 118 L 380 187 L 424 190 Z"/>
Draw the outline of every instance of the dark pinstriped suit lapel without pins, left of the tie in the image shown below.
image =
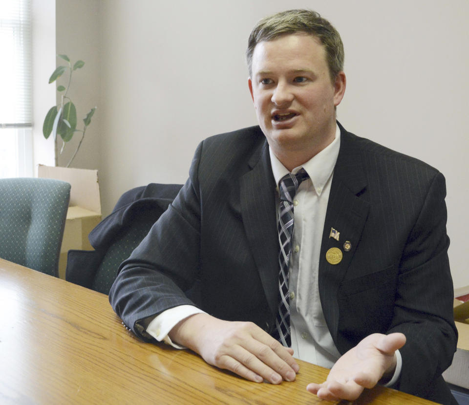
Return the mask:
<path id="1" fill-rule="evenodd" d="M 263 142 L 249 162 L 252 169 L 241 177 L 241 215 L 264 292 L 273 314 L 278 300 L 278 238 L 276 225 L 276 185 L 270 164 L 269 147 Z"/>

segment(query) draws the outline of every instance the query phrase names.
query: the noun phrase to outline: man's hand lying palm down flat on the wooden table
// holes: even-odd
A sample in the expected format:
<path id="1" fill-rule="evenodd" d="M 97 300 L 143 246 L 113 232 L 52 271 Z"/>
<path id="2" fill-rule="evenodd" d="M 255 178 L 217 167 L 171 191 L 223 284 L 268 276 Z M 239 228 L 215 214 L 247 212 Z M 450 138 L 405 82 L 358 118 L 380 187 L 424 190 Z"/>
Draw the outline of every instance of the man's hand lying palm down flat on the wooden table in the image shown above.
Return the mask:
<path id="1" fill-rule="evenodd" d="M 252 322 L 231 322 L 195 314 L 177 323 L 169 337 L 198 353 L 209 364 L 256 383 L 294 381 L 299 370 L 292 357 L 293 350 L 282 346 Z"/>

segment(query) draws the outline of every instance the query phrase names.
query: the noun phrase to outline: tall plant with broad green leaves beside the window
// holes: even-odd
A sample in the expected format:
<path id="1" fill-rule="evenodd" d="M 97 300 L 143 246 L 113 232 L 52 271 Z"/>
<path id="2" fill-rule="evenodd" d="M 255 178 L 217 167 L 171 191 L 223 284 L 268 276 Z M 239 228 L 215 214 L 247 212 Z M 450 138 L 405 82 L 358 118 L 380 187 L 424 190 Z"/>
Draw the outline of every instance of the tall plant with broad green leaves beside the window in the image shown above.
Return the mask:
<path id="1" fill-rule="evenodd" d="M 49 109 L 47 112 L 45 119 L 44 119 L 44 124 L 43 124 L 43 135 L 45 139 L 47 139 L 50 134 L 52 133 L 54 136 L 54 140 L 57 142 L 57 135 L 59 135 L 63 141 L 62 148 L 60 150 L 60 153 L 63 152 L 65 144 L 69 142 L 72 138 L 75 132 L 81 132 L 82 137 L 80 139 L 80 142 L 77 146 L 77 149 L 75 149 L 75 152 L 73 153 L 70 161 L 66 165 L 68 168 L 70 164 L 72 163 L 73 159 L 75 158 L 78 149 L 80 149 L 80 146 L 82 145 L 83 139 L 85 137 L 85 132 L 86 128 L 88 125 L 91 123 L 91 117 L 93 116 L 96 107 L 91 108 L 88 113 L 85 115 L 85 118 L 83 119 L 83 129 L 78 129 L 77 128 L 77 110 L 75 108 L 75 105 L 73 102 L 70 100 L 70 97 L 67 96 L 68 90 L 70 88 L 70 84 L 72 81 L 72 73 L 77 70 L 81 69 L 84 65 L 85 62 L 79 60 L 72 64 L 70 62 L 70 59 L 68 58 L 67 55 L 57 55 L 59 58 L 63 59 L 68 63 L 68 66 L 58 66 L 52 75 L 49 78 L 49 83 L 55 82 L 59 77 L 61 77 L 65 72 L 68 72 L 68 83 L 67 86 L 59 85 L 57 86 L 57 91 L 61 95 L 60 97 L 60 103 L 57 106 L 53 106 L 52 108 Z"/>

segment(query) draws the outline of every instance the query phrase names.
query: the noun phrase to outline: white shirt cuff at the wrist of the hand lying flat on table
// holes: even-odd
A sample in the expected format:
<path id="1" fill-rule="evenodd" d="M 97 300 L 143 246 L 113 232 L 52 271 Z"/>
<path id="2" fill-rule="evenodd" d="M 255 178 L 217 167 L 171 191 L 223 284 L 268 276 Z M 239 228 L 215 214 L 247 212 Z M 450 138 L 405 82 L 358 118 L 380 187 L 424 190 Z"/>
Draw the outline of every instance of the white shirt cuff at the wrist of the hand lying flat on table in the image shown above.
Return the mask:
<path id="1" fill-rule="evenodd" d="M 171 341 L 168 333 L 178 322 L 195 314 L 205 314 L 205 312 L 193 305 L 179 305 L 167 309 L 149 323 L 147 333 L 157 341 L 164 341 L 176 349 L 185 349 L 186 347 Z"/>

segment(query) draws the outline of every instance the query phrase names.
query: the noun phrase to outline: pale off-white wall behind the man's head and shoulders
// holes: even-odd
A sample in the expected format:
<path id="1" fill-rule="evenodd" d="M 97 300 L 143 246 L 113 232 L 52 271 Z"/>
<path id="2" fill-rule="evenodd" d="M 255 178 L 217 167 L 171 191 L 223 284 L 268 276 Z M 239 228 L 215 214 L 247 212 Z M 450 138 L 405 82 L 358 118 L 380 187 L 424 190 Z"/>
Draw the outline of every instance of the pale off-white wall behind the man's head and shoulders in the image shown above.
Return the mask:
<path id="1" fill-rule="evenodd" d="M 249 32 L 267 14 L 309 7 L 345 45 L 345 128 L 446 175 L 453 279 L 469 285 L 467 0 L 85 3 L 99 9 L 99 41 L 88 46 L 99 49 L 101 86 L 99 156 L 86 164 L 99 169 L 105 214 L 132 187 L 184 182 L 203 138 L 256 124 L 244 63 Z"/>

